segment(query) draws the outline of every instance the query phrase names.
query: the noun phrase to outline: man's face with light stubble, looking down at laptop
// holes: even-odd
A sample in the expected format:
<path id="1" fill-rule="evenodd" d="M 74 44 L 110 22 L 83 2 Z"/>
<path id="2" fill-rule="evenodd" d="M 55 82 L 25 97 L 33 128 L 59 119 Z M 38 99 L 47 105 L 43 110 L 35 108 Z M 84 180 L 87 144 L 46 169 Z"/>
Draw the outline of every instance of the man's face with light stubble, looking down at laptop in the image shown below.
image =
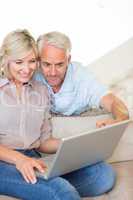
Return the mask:
<path id="1" fill-rule="evenodd" d="M 61 48 L 46 45 L 41 52 L 41 68 L 45 79 L 56 93 L 64 81 L 70 56 Z"/>

